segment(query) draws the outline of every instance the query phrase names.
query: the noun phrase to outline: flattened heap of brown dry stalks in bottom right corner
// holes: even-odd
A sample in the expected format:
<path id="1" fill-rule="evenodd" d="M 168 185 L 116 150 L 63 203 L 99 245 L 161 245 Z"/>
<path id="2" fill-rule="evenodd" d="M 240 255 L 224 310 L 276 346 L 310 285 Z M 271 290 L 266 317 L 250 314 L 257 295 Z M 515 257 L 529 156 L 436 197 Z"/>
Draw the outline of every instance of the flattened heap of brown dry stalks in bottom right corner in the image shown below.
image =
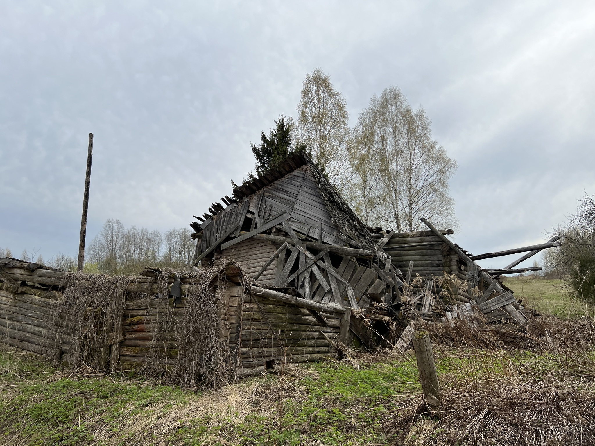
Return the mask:
<path id="1" fill-rule="evenodd" d="M 442 392 L 441 419 L 405 410 L 387 425 L 394 444 L 591 445 L 595 444 L 595 396 L 568 384 L 515 379 L 474 381 Z M 405 406 L 406 401 L 403 401 Z"/>

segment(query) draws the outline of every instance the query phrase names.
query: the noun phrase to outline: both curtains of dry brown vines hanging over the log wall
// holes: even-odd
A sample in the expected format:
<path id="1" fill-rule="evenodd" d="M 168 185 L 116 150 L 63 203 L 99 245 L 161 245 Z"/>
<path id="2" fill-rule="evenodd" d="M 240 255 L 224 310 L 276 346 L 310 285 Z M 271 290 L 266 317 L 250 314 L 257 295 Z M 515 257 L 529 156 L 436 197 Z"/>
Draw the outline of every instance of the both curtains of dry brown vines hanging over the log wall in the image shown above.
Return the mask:
<path id="1" fill-rule="evenodd" d="M 230 350 L 230 326 L 224 317 L 228 266 L 241 269 L 235 260 L 222 258 L 200 271 L 154 270 L 158 293 L 154 299 L 146 293 L 154 332 L 143 373 L 186 388 L 220 387 L 235 378 L 236 352 Z M 181 308 L 168 299 L 169 279 L 180 276 L 188 285 L 186 303 Z M 250 279 L 242 277 L 243 286 L 249 287 Z M 64 299 L 55 307 L 48 331 L 52 351 L 60 351 L 58 333 L 68 332 L 73 338 L 68 364 L 73 369 L 106 370 L 109 344 L 114 343 L 110 334 L 122 331 L 126 288 L 133 279 L 67 274 L 61 282 Z M 118 350 L 112 347 L 112 351 L 116 353 L 112 353 L 109 368 L 114 371 L 119 366 Z M 173 352 L 176 357 L 169 356 Z"/>

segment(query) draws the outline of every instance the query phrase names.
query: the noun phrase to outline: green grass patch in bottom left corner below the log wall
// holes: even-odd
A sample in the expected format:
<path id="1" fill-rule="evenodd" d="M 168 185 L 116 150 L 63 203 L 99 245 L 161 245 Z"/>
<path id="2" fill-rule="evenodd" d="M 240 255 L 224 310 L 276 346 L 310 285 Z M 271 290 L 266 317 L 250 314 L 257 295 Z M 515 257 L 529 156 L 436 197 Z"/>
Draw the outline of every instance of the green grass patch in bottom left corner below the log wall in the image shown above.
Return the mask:
<path id="1" fill-rule="evenodd" d="M 38 359 L 4 352 L 0 356 L 0 442 L 74 445 L 92 442 L 101 426 L 117 433 L 131 413 L 167 401 L 184 401 L 183 392 L 163 385 L 105 376 L 69 376 Z M 122 436 L 124 436 L 123 434 Z"/>

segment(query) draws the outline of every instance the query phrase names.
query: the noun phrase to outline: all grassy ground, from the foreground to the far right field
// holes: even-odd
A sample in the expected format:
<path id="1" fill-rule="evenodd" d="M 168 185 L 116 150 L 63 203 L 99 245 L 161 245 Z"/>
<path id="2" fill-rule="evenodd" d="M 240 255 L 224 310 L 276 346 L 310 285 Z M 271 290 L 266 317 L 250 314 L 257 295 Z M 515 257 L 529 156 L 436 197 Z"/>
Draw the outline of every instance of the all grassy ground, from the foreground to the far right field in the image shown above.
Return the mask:
<path id="1" fill-rule="evenodd" d="M 595 444 L 591 319 L 549 316 L 585 314 L 560 281 L 506 285 L 543 316 L 528 332 L 435 328 L 445 330 L 433 334 L 440 419 L 424 413 L 411 350 L 352 351 L 188 391 L 131 373 L 74 373 L 3 347 L 0 445 Z"/>

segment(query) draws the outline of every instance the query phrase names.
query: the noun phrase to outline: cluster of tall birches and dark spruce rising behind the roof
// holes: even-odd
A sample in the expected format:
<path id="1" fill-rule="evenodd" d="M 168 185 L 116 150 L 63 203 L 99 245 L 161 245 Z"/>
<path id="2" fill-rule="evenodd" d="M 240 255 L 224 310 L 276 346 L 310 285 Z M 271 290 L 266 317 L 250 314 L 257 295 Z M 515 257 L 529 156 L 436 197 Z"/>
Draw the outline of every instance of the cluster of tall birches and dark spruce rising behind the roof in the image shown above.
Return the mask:
<path id="1" fill-rule="evenodd" d="M 417 231 L 425 217 L 458 227 L 449 195 L 456 161 L 433 139 L 424 109 L 395 86 L 372 96 L 350 128 L 345 98 L 317 68 L 303 81 L 297 117 L 281 115 L 251 149 L 259 176 L 305 150 L 368 226 Z"/>

